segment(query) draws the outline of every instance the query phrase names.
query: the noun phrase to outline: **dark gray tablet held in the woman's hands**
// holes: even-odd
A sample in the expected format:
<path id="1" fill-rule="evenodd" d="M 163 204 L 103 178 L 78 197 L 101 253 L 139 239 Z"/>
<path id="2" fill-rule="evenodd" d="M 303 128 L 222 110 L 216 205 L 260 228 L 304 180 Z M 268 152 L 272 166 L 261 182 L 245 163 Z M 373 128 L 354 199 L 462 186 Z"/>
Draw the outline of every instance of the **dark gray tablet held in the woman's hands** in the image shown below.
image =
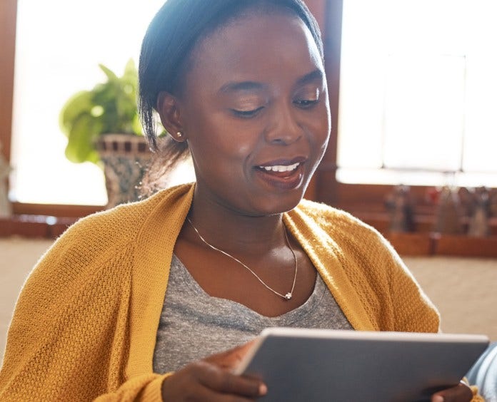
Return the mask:
<path id="1" fill-rule="evenodd" d="M 429 401 L 487 346 L 483 335 L 269 328 L 236 373 L 263 379 L 261 401 Z"/>

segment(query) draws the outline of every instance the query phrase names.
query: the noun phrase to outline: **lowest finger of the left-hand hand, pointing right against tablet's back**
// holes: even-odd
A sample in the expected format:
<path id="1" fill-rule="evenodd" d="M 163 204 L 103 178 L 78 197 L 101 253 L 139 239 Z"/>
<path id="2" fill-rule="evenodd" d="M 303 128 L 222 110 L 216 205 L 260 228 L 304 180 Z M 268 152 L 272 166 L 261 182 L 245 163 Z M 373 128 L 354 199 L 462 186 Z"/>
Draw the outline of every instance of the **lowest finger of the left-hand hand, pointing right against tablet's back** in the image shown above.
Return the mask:
<path id="1" fill-rule="evenodd" d="M 222 393 L 256 398 L 267 392 L 266 385 L 257 378 L 236 376 L 213 364 L 202 362 L 205 367 L 199 371 L 199 382 Z"/>

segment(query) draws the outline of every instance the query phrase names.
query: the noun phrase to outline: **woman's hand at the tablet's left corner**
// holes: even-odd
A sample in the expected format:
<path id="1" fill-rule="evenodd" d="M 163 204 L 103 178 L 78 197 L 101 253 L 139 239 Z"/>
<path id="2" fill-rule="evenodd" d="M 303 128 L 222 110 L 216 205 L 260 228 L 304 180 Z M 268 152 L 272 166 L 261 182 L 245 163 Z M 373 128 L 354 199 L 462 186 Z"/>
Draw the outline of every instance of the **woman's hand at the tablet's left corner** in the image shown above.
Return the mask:
<path id="1" fill-rule="evenodd" d="M 164 401 L 253 401 L 267 392 L 266 385 L 231 373 L 251 346 L 245 344 L 196 361 L 162 383 Z"/>

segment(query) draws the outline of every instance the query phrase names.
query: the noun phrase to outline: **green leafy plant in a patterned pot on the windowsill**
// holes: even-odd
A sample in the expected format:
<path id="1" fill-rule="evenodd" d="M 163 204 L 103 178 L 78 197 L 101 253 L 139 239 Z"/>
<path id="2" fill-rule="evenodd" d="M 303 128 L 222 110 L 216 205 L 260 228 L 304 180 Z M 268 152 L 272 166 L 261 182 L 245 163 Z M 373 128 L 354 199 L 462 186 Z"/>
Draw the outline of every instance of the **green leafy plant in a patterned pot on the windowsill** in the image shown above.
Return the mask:
<path id="1" fill-rule="evenodd" d="M 67 100 L 60 113 L 61 130 L 68 138 L 66 157 L 104 169 L 107 207 L 137 200 L 151 152 L 143 136 L 136 108 L 138 73 L 129 60 L 124 74 L 99 65 L 106 81 Z"/>

